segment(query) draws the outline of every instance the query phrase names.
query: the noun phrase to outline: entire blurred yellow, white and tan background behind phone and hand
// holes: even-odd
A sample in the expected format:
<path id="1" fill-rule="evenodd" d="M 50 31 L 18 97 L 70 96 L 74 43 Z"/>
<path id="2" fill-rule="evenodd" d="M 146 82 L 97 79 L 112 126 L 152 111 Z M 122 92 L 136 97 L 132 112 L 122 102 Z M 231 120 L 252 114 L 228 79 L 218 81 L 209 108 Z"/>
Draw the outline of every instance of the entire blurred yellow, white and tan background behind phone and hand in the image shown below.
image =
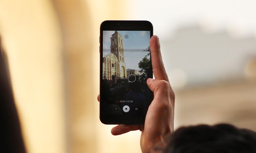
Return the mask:
<path id="1" fill-rule="evenodd" d="M 140 131 L 99 121 L 99 26 L 149 20 L 176 93 L 175 128 L 231 123 L 256 130 L 253 0 L 0 0 L 28 153 L 139 153 Z"/>

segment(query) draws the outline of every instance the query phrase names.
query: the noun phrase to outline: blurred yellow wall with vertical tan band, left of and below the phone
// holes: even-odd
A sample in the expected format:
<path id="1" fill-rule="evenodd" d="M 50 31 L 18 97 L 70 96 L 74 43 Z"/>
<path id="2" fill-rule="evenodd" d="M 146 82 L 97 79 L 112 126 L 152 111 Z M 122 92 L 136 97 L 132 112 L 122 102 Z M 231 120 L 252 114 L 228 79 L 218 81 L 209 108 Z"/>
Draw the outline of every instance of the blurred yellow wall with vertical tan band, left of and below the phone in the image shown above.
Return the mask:
<path id="1" fill-rule="evenodd" d="M 115 139 L 112 126 L 100 123 L 96 100 L 99 25 L 128 19 L 125 5 L 115 0 L 0 1 L 0 35 L 27 152 L 118 152 L 119 147 L 108 148 L 109 138 L 115 146 L 137 145 L 126 152 L 140 152 L 139 139 Z"/>

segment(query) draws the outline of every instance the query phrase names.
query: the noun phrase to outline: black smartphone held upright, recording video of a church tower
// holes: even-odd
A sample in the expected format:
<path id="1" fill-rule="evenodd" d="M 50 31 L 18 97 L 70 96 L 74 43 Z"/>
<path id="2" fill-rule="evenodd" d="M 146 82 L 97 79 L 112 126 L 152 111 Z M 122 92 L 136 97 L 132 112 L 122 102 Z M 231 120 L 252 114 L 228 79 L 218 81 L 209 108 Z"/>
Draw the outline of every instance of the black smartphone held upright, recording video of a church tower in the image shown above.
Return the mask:
<path id="1" fill-rule="evenodd" d="M 104 21 L 100 25 L 100 121 L 144 124 L 153 100 L 149 21 Z"/>

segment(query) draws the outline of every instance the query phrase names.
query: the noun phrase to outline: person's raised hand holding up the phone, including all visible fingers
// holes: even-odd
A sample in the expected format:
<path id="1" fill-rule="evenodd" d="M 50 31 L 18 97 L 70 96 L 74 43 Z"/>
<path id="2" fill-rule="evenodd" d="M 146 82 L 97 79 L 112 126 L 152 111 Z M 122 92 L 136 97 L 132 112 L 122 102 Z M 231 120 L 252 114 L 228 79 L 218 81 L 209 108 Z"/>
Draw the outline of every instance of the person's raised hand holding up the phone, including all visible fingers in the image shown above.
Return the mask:
<path id="1" fill-rule="evenodd" d="M 149 78 L 147 84 L 154 92 L 154 99 L 149 106 L 144 125 L 117 125 L 112 128 L 113 135 L 141 130 L 141 150 L 151 152 L 157 143 L 164 140 L 167 133 L 174 131 L 175 94 L 169 83 L 162 61 L 159 38 L 150 39 L 152 67 L 155 79 Z M 99 96 L 97 97 L 99 100 Z"/>

